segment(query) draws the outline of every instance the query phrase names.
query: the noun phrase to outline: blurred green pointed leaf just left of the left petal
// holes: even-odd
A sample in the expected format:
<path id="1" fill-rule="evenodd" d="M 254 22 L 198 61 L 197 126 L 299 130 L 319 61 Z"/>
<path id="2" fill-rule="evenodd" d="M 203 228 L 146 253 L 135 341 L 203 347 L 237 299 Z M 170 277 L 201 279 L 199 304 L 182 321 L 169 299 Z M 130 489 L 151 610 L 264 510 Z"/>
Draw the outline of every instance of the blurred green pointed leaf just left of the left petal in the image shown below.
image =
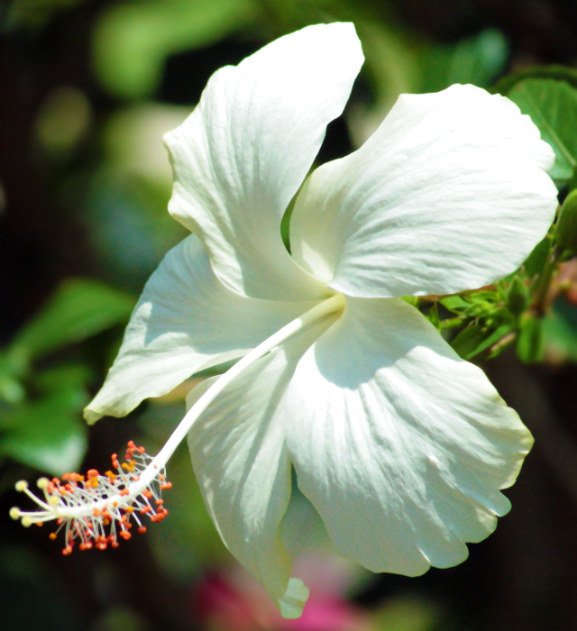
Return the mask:
<path id="1" fill-rule="evenodd" d="M 66 280 L 41 313 L 24 325 L 9 351 L 41 357 L 124 322 L 133 306 L 133 297 L 96 280 Z"/>

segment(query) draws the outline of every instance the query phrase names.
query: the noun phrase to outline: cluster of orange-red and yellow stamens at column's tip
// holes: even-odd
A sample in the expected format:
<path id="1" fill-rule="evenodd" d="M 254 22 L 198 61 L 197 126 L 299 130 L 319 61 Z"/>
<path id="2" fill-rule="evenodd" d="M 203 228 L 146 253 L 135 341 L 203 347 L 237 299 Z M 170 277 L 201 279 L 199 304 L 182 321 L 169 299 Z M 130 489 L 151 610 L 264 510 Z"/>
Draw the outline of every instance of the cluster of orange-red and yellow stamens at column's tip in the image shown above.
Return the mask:
<path id="1" fill-rule="evenodd" d="M 61 480 L 41 478 L 37 484 L 44 500 L 28 489 L 25 480 L 16 482 L 16 490 L 32 498 L 41 509 L 28 512 L 14 507 L 10 517 L 21 519 L 26 527 L 56 520 L 59 528 L 49 536 L 54 540 L 60 530 L 65 529 L 62 550 L 65 555 L 72 553 L 77 540 L 79 550 L 92 547 L 105 550 L 109 544 L 118 547 L 119 536 L 125 540 L 131 538 L 131 518 L 138 532 L 145 533 L 146 526 L 142 526 L 138 515 L 148 515 L 151 522 L 158 524 L 169 514 L 163 506 L 162 490 L 172 486 L 166 481 L 164 467 L 159 468 L 144 448 L 137 447 L 133 441 L 128 443 L 124 458 L 128 464 L 120 466 L 117 454 L 113 453 L 116 473 L 106 471 L 105 475 L 100 475 L 96 469 L 90 469 L 86 477 L 65 473 Z"/>

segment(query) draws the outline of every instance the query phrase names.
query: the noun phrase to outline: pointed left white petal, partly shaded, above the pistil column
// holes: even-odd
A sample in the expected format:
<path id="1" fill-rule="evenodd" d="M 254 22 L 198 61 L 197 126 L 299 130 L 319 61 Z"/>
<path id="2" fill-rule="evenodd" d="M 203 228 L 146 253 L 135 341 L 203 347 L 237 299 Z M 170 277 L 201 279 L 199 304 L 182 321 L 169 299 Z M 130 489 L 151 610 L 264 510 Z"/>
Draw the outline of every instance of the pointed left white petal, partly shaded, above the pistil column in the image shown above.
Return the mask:
<path id="1" fill-rule="evenodd" d="M 124 416 L 193 372 L 240 357 L 315 303 L 242 297 L 215 277 L 191 234 L 166 255 L 134 308 L 118 357 L 85 410 Z"/>

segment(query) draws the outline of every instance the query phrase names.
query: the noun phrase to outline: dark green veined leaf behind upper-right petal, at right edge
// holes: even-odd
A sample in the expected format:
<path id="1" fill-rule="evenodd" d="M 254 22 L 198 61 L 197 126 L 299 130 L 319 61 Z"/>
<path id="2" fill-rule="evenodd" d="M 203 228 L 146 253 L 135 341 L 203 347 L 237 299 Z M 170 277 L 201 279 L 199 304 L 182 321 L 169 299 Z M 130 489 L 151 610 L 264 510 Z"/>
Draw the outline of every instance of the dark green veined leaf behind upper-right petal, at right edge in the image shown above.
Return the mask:
<path id="1" fill-rule="evenodd" d="M 523 114 L 529 114 L 541 137 L 555 152 L 549 175 L 558 187 L 572 178 L 577 163 L 577 90 L 566 81 L 527 78 L 507 94 Z"/>

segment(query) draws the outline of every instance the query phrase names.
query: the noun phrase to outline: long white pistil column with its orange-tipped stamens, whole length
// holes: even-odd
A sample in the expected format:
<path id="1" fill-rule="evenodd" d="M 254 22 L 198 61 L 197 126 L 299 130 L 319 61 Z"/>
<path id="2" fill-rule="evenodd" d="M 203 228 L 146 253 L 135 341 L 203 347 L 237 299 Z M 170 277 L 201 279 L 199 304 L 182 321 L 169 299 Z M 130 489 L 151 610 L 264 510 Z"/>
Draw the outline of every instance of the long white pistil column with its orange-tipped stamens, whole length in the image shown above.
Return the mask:
<path id="1" fill-rule="evenodd" d="M 112 456 L 116 472 L 111 470 L 101 475 L 91 469 L 86 476 L 65 473 L 61 480 L 38 480 L 43 500 L 28 489 L 25 480 L 20 480 L 16 483 L 16 490 L 32 498 L 41 510 L 25 512 L 20 508 L 12 508 L 10 516 L 21 519 L 23 526 L 42 526 L 44 522 L 56 520 L 59 528 L 50 534 L 50 538 L 55 539 L 58 532 L 65 529 L 63 554 L 71 553 L 77 540 L 80 550 L 88 550 L 93 546 L 105 550 L 109 544 L 117 547 L 119 536 L 126 540 L 131 538 L 129 530 L 133 525 L 138 526 L 138 532 L 146 532 L 146 526 L 142 524 L 143 517 L 148 516 L 153 523 L 158 523 L 168 515 L 162 499 L 162 490 L 171 487 L 171 483 L 166 480 L 166 464 L 197 418 L 243 370 L 305 326 L 342 311 L 345 305 L 342 294 L 327 298 L 248 352 L 198 398 L 154 458 L 131 441 L 124 456 L 127 462 L 121 465 L 117 455 L 114 453 Z"/>

